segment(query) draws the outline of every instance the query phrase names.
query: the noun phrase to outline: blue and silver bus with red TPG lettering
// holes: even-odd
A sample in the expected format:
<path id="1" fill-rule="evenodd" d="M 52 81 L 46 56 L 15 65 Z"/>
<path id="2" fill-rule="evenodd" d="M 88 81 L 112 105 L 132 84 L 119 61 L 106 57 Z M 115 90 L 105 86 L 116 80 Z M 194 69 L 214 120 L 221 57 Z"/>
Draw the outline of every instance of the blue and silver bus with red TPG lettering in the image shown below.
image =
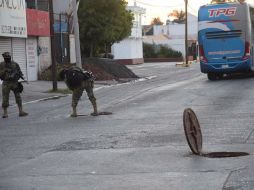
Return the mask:
<path id="1" fill-rule="evenodd" d="M 254 71 L 254 7 L 226 1 L 198 12 L 200 70 L 209 80 L 224 74 Z"/>

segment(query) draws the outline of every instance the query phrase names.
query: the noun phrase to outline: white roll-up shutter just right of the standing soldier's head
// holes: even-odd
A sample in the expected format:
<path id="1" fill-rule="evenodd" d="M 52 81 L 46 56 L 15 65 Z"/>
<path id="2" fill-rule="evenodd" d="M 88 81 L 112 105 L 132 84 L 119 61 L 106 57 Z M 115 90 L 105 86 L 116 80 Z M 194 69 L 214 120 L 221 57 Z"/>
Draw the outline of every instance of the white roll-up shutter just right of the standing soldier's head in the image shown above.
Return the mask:
<path id="1" fill-rule="evenodd" d="M 12 38 L 12 56 L 13 60 L 17 62 L 20 69 L 27 79 L 27 65 L 26 65 L 26 40 L 23 38 Z"/>

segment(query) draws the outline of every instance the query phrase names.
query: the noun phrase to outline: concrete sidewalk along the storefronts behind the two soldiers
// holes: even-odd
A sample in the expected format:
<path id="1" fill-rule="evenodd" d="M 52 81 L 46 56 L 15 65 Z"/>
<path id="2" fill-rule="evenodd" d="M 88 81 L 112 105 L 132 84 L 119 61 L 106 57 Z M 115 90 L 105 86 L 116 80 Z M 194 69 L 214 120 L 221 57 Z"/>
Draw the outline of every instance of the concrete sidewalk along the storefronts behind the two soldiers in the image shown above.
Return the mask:
<path id="1" fill-rule="evenodd" d="M 95 81 L 95 88 L 104 86 L 104 85 L 113 85 L 117 84 L 117 81 Z M 68 94 L 63 93 L 51 93 L 53 85 L 52 81 L 33 81 L 28 84 L 23 83 L 24 91 L 21 94 L 23 104 L 53 98 L 56 96 L 67 96 Z M 67 89 L 67 86 L 64 82 L 57 82 L 58 89 Z M 2 89 L 2 84 L 0 84 L 0 88 Z M 0 97 L 2 97 L 2 90 L 0 90 Z M 2 98 L 1 98 L 2 99 Z M 2 101 L 2 100 L 1 100 Z M 10 106 L 15 106 L 15 97 L 14 94 L 10 94 Z"/>

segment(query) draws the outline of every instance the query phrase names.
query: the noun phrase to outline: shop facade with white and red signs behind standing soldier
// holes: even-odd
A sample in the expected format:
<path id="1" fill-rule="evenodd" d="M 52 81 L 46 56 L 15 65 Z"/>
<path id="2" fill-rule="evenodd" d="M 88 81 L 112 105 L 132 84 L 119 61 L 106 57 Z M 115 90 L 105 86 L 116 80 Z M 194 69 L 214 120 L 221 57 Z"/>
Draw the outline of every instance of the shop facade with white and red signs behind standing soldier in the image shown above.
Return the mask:
<path id="1" fill-rule="evenodd" d="M 48 10 L 48 0 L 0 1 L 0 54 L 9 51 L 28 81 L 51 65 Z"/>

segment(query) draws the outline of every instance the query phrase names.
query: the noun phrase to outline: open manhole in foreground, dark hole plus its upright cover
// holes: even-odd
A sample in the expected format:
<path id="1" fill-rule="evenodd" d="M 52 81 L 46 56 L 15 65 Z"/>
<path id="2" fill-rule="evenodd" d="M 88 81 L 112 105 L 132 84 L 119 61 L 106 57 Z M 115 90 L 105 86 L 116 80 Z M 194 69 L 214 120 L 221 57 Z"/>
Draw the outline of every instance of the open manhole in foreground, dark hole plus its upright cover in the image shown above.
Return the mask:
<path id="1" fill-rule="evenodd" d="M 195 155 L 209 158 L 226 158 L 247 156 L 247 152 L 202 152 L 202 132 L 195 112 L 191 108 L 186 108 L 183 112 L 183 126 L 188 145 Z"/>

